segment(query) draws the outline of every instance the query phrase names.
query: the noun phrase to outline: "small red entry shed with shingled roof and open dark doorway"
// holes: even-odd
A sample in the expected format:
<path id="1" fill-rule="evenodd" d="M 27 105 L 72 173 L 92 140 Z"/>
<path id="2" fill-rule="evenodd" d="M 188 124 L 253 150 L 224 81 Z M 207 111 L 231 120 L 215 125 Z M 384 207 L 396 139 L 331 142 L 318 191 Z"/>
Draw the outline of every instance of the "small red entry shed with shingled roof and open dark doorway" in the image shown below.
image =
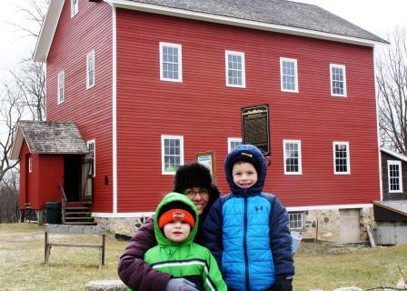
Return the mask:
<path id="1" fill-rule="evenodd" d="M 88 154 L 72 122 L 21 121 L 11 154 L 20 160 L 20 209 L 42 210 L 48 201 L 62 201 L 62 189 L 67 202 L 92 203 Z"/>

